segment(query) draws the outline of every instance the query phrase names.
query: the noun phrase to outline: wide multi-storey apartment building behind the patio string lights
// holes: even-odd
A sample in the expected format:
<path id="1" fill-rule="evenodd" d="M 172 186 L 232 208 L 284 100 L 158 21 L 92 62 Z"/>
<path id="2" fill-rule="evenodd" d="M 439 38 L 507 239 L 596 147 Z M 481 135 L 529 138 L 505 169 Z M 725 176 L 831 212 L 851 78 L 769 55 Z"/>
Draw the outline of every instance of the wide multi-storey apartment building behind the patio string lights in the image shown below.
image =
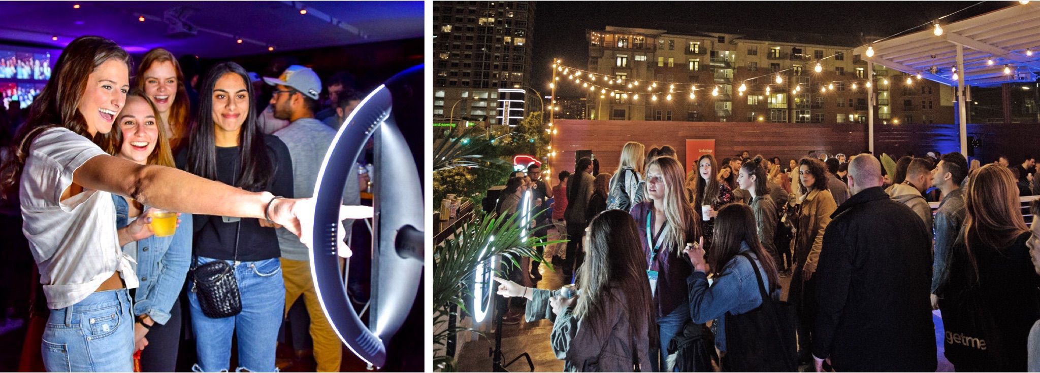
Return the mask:
<path id="1" fill-rule="evenodd" d="M 609 81 L 605 94 L 589 91 L 589 118 L 866 122 L 868 64 L 852 55 L 858 38 L 655 26 L 588 32 L 588 71 Z M 907 73 L 875 65 L 876 123 L 953 123 L 952 88 Z"/>

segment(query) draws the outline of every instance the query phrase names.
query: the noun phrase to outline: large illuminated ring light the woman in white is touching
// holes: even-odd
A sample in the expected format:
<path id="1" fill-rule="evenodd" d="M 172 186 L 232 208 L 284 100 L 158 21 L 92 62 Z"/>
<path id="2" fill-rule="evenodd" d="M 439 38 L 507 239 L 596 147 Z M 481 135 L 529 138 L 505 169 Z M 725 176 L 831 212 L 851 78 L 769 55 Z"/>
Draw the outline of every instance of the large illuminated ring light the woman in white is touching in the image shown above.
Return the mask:
<path id="1" fill-rule="evenodd" d="M 405 322 L 422 276 L 422 184 L 409 144 L 395 123 L 391 96 L 395 82 L 421 79 L 422 72 L 421 64 L 408 69 L 361 101 L 336 133 L 314 186 L 310 261 L 321 310 L 350 351 L 376 368 L 386 365 L 387 345 Z M 421 109 L 422 105 L 397 104 L 397 110 L 416 110 L 414 105 Z M 402 125 L 420 128 L 418 123 Z M 340 239 L 339 206 L 347 172 L 373 136 L 372 279 L 366 326 L 347 299 L 336 242 Z"/>

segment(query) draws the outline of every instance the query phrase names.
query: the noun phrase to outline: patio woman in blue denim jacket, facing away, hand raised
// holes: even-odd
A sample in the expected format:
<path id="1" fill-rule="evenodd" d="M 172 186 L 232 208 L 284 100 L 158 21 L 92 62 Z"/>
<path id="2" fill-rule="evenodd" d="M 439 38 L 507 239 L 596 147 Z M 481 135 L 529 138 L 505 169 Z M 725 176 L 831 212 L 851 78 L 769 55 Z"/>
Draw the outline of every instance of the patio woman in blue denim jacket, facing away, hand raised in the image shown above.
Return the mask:
<path id="1" fill-rule="evenodd" d="M 695 323 L 716 320 L 716 347 L 727 351 L 727 320 L 742 315 L 762 304 L 755 271 L 762 277 L 766 292 L 779 299 L 780 288 L 776 263 L 758 240 L 755 215 L 751 208 L 743 204 L 731 204 L 719 210 L 716 220 L 716 243 L 710 256 L 705 260 L 701 245 L 688 244 L 683 252 L 694 265 L 694 273 L 686 279 L 690 288 L 690 316 Z M 701 241 L 703 243 L 703 240 Z M 744 254 L 754 259 L 752 266 Z M 714 281 L 708 285 L 708 273 Z M 731 327 L 733 325 L 730 325 Z M 751 336 L 734 336 L 747 341 Z M 744 349 L 742 349 L 744 350 Z M 743 361 L 747 356 L 723 355 L 725 363 Z"/>

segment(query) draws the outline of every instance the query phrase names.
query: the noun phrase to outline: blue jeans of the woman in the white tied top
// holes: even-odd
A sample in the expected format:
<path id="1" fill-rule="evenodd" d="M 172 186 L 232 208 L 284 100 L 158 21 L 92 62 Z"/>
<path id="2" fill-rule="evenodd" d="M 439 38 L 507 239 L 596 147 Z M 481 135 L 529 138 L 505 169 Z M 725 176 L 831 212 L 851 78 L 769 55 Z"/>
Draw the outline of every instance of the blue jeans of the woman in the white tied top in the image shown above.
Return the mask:
<path id="1" fill-rule="evenodd" d="M 133 371 L 133 314 L 126 289 L 51 310 L 41 343 L 48 372 Z"/>

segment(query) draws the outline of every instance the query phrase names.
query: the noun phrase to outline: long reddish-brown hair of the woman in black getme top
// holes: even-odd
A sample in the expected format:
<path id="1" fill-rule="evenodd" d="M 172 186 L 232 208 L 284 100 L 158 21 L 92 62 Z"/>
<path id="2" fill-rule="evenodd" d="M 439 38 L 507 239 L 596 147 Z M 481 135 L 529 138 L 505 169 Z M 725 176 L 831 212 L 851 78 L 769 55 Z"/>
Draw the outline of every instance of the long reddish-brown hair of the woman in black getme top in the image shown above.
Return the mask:
<path id="1" fill-rule="evenodd" d="M 999 250 L 1030 229 L 1022 217 L 1016 180 L 1008 167 L 990 163 L 972 174 L 964 207 L 964 246 L 978 278 L 979 265 L 972 250 L 986 247 Z M 978 238 L 983 247 L 971 247 L 970 238 Z"/>

